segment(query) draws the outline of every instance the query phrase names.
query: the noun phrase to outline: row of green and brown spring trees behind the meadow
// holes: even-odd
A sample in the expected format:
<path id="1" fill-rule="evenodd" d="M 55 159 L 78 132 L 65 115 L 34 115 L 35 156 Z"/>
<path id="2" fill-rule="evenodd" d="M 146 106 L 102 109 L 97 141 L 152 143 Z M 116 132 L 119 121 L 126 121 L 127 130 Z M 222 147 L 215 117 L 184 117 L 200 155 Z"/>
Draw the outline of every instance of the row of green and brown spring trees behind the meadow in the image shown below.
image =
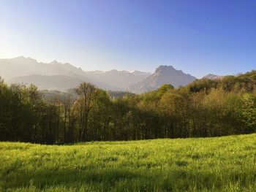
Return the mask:
<path id="1" fill-rule="evenodd" d="M 256 71 L 119 97 L 87 82 L 48 96 L 35 85 L 7 85 L 0 78 L 1 141 L 63 144 L 255 131 Z"/>

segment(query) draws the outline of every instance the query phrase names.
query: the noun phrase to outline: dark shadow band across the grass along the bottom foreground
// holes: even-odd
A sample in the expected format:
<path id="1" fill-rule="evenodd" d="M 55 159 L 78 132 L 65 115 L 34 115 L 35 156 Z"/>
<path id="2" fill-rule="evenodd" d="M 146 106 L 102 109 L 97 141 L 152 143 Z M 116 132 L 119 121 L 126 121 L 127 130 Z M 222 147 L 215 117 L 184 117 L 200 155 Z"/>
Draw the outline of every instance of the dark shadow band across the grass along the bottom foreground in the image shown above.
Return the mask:
<path id="1" fill-rule="evenodd" d="M 254 172 L 227 172 L 217 174 L 203 170 L 189 170 L 181 166 L 178 169 L 133 169 L 105 168 L 105 169 L 59 169 L 14 171 L 1 175 L 1 188 L 26 188 L 33 186 L 37 189 L 64 186 L 92 186 L 94 191 L 211 191 L 226 188 L 227 185 L 237 183 L 246 188 L 255 183 Z M 96 190 L 97 189 L 97 190 Z"/>

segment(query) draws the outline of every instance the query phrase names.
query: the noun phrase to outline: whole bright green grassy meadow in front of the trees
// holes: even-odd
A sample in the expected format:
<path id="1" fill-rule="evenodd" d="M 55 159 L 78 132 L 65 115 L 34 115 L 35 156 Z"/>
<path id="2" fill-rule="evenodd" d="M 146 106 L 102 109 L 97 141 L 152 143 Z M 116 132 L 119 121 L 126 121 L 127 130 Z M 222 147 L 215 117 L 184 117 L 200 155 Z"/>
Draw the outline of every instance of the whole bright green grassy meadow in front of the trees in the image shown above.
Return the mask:
<path id="1" fill-rule="evenodd" d="M 0 191 L 256 191 L 256 134 L 65 146 L 0 142 Z"/>

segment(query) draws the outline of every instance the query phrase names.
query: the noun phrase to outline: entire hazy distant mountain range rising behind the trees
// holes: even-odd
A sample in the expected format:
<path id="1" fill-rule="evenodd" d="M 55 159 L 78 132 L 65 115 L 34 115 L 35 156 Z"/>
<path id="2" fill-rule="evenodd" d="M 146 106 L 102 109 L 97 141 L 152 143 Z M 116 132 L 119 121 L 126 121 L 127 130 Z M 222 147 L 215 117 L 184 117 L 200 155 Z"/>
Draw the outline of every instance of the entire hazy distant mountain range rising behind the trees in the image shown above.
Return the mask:
<path id="1" fill-rule="evenodd" d="M 77 87 L 80 82 L 91 82 L 98 88 L 110 91 L 130 91 L 143 93 L 159 88 L 162 84 L 174 87 L 187 85 L 196 80 L 190 74 L 176 70 L 173 66 L 159 66 L 151 72 L 127 72 L 110 70 L 108 72 L 86 72 L 69 63 L 53 61 L 49 64 L 39 63 L 33 58 L 0 59 L 0 76 L 8 83 L 34 84 L 41 90 L 66 91 Z M 212 78 L 212 77 L 206 77 Z"/>

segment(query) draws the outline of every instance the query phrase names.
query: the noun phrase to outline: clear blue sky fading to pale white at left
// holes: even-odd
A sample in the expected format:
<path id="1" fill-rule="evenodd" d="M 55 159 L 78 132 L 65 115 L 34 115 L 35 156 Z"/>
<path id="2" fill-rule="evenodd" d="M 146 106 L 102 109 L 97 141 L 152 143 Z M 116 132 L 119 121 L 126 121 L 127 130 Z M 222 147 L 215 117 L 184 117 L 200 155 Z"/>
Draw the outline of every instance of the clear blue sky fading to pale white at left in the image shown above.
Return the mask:
<path id="1" fill-rule="evenodd" d="M 0 0 L 0 58 L 195 77 L 256 69 L 255 0 Z"/>

